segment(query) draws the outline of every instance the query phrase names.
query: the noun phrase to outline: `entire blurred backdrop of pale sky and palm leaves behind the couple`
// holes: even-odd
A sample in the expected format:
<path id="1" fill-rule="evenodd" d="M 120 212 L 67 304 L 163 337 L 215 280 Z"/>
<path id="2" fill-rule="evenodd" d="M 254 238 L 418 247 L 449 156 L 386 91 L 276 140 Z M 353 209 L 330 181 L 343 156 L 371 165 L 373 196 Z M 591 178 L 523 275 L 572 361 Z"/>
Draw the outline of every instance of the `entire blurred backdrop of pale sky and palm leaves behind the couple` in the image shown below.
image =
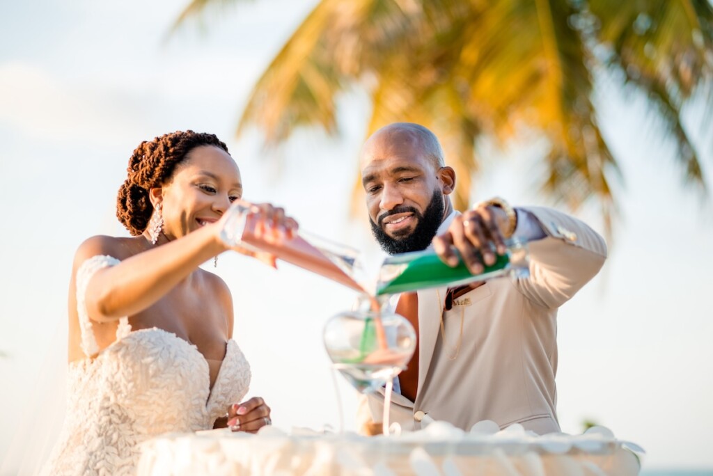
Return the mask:
<path id="1" fill-rule="evenodd" d="M 607 237 L 560 311 L 563 431 L 609 427 L 645 474 L 713 474 L 712 75 L 708 0 L 2 2 L 0 459 L 64 341 L 76 247 L 128 235 L 116 192 L 142 140 L 215 133 L 248 200 L 376 256 L 359 148 L 409 120 L 443 141 L 459 207 L 501 195 Z M 354 293 L 232 254 L 206 269 L 275 424 L 339 428 L 341 400 L 354 430 L 322 347 Z"/>

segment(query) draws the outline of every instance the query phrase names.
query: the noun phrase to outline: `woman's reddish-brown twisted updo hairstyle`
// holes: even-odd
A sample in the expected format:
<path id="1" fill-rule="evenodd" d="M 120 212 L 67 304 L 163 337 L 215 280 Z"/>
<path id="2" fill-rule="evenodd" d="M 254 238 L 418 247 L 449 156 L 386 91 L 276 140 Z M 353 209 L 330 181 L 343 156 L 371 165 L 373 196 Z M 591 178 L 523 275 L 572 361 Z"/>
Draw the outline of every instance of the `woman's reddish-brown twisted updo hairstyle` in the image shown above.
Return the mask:
<path id="1" fill-rule="evenodd" d="M 227 152 L 227 146 L 215 135 L 177 131 L 145 140 L 129 159 L 126 180 L 116 197 L 116 217 L 133 236 L 142 234 L 153 213 L 148 191 L 161 187 L 173 176 L 176 165 L 188 152 L 201 145 L 215 145 Z"/>

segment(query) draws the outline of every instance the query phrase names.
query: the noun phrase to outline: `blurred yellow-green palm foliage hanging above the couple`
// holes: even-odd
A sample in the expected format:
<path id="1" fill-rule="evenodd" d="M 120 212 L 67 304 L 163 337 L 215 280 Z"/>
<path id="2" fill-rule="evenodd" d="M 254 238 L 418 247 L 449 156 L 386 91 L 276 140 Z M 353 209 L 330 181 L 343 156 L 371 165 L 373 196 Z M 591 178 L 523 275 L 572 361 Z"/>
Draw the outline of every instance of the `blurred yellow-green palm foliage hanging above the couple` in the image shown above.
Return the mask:
<path id="1" fill-rule="evenodd" d="M 180 21 L 235 1 L 194 0 Z M 358 84 L 374 105 L 369 133 L 411 121 L 441 138 L 457 206 L 468 203 L 478 138 L 535 133 L 548 143 L 543 191 L 572 209 L 597 200 L 610 226 L 620 173 L 593 103 L 601 73 L 645 93 L 685 177 L 705 191 L 681 117 L 694 95 L 713 109 L 708 0 L 322 0 L 255 85 L 238 132 L 255 124 L 270 144 L 303 125 L 334 133 L 335 98 Z"/>

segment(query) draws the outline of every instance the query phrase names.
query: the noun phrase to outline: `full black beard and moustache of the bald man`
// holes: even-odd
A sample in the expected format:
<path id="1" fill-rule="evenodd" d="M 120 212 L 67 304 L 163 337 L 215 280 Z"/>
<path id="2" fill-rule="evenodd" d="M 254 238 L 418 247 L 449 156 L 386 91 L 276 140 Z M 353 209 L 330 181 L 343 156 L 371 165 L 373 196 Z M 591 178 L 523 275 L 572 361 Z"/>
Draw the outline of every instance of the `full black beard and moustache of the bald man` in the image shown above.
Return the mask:
<path id="1" fill-rule="evenodd" d="M 445 205 L 443 205 L 443 194 L 441 190 L 434 190 L 434 196 L 431 198 L 429 206 L 426 207 L 424 214 L 421 214 L 414 207 L 395 207 L 382 214 L 377 219 L 379 224 L 374 223 L 374 221 L 369 217 L 369 223 L 371 223 L 371 232 L 374 234 L 374 238 L 381 245 L 386 253 L 397 254 L 397 253 L 408 253 L 408 252 L 419 252 L 422 249 L 426 249 L 431 240 L 436 236 L 438 227 L 441 226 L 443 222 L 443 210 Z M 384 229 L 381 227 L 384 218 L 389 215 L 411 212 L 414 217 L 418 219 L 416 227 L 411 234 L 405 237 L 392 238 L 389 237 Z"/>

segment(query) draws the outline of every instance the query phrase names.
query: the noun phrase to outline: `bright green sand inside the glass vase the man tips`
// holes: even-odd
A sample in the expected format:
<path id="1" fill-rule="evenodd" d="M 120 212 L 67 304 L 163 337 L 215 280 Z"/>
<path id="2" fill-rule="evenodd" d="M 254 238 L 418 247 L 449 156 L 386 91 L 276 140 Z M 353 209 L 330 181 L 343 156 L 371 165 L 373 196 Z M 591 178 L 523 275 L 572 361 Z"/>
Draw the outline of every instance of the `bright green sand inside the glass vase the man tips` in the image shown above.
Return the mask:
<path id="1" fill-rule="evenodd" d="M 451 268 L 443 263 L 434 252 L 417 252 L 409 253 L 409 255 L 411 256 L 406 257 L 404 254 L 397 258 L 397 260 L 404 260 L 401 263 L 398 261 L 389 263 L 391 267 L 403 267 L 404 269 L 399 270 L 399 275 L 391 281 L 380 282 L 376 290 L 377 296 L 464 284 L 468 281 L 476 281 L 478 278 L 487 279 L 493 274 L 498 274 L 497 271 L 506 269 L 510 263 L 508 254 L 503 254 L 503 256 L 496 254 L 496 262 L 493 265 L 486 266 L 485 271 L 481 274 L 472 274 L 462 259 L 458 262 L 458 266 Z"/>

